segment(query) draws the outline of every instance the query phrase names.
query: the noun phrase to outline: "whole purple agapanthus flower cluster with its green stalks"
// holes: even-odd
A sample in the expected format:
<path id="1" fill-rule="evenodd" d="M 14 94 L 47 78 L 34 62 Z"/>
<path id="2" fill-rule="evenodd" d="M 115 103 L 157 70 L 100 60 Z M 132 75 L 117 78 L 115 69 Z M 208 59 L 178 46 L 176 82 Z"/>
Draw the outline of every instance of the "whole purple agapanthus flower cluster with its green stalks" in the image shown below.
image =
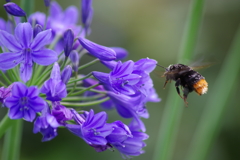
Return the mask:
<path id="1" fill-rule="evenodd" d="M 33 122 L 42 141 L 54 139 L 62 127 L 97 152 L 116 149 L 124 158 L 144 153 L 149 136 L 141 118 L 149 117 L 147 102 L 160 101 L 150 77 L 157 61 L 124 62 L 127 50 L 90 41 L 92 0 L 65 11 L 55 1 L 42 3 L 49 14 L 28 17 L 17 4 L 4 5 L 9 20 L 0 19 L 0 103 L 9 109 L 8 117 Z M 82 56 L 95 59 L 81 64 Z M 110 71 L 82 74 L 97 62 Z M 96 104 L 105 111 L 84 110 Z M 129 124 L 109 122 L 109 109 L 130 119 Z"/>

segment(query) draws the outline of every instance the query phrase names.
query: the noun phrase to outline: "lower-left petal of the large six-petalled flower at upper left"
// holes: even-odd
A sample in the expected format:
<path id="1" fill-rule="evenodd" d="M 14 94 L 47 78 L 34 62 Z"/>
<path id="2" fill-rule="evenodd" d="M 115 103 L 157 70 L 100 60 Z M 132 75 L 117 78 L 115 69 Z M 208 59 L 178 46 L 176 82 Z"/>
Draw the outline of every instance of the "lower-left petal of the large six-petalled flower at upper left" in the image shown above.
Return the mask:
<path id="1" fill-rule="evenodd" d="M 22 61 L 21 53 L 2 53 L 0 54 L 0 69 L 8 70 L 14 68 Z"/>

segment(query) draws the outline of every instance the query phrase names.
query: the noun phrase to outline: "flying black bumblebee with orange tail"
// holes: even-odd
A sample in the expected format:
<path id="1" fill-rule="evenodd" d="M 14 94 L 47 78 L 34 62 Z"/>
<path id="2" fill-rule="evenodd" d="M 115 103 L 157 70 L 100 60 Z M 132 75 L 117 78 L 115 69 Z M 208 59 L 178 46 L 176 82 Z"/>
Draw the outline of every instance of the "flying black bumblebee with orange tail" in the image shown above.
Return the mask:
<path id="1" fill-rule="evenodd" d="M 165 69 L 162 76 L 166 77 L 164 88 L 168 81 L 176 81 L 175 87 L 177 93 L 184 100 L 186 106 L 188 104 L 187 96 L 190 92 L 195 91 L 198 95 L 207 93 L 208 83 L 205 78 L 198 72 L 194 71 L 191 67 L 183 64 L 174 64 L 167 68 L 160 65 L 158 66 Z M 183 88 L 183 97 L 180 94 L 179 86 Z"/>

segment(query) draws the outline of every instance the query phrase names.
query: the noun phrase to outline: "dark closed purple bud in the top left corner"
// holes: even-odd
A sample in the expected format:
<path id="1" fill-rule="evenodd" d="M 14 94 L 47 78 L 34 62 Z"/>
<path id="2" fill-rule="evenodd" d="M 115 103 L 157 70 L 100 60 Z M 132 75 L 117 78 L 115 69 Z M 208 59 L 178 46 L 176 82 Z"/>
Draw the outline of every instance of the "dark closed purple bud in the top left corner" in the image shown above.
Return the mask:
<path id="1" fill-rule="evenodd" d="M 3 5 L 3 7 L 7 11 L 7 13 L 9 13 L 13 16 L 17 16 L 17 17 L 25 17 L 26 16 L 26 13 L 24 12 L 24 10 L 22 10 L 22 8 L 20 8 L 17 4 L 15 4 L 13 2 L 6 3 Z"/>

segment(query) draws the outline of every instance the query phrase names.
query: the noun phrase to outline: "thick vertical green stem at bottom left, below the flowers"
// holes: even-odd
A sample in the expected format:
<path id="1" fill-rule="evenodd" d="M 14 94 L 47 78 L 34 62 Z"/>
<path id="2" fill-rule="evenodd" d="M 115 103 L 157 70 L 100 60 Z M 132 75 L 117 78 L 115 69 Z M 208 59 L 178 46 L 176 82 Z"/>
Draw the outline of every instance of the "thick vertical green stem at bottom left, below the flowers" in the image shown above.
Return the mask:
<path id="1" fill-rule="evenodd" d="M 15 120 L 5 134 L 2 160 L 18 160 L 22 137 L 22 120 Z"/>

